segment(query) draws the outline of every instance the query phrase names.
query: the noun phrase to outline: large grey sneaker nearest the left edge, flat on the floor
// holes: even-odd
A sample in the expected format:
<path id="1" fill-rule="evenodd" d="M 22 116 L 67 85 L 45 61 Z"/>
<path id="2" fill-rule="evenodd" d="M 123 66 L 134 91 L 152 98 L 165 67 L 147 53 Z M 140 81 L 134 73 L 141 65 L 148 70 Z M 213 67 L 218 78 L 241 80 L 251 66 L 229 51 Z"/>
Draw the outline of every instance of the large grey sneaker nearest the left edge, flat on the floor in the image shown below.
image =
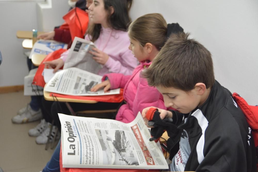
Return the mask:
<path id="1" fill-rule="evenodd" d="M 42 119 L 41 110 L 39 109 L 38 111 L 34 111 L 28 104 L 26 108 L 22 108 L 18 111 L 18 115 L 12 118 L 12 122 L 21 124 L 26 122 L 37 121 L 40 119 Z"/>

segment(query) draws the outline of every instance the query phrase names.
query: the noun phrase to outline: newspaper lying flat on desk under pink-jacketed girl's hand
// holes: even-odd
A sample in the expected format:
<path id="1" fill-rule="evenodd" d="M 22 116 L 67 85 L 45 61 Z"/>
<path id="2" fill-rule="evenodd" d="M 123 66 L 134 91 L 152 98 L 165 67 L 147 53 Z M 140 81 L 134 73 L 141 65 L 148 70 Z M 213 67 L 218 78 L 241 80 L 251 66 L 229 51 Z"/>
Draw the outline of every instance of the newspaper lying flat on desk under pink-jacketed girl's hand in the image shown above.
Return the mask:
<path id="1" fill-rule="evenodd" d="M 119 94 L 120 88 L 104 92 L 103 88 L 97 92 L 91 92 L 91 88 L 101 83 L 102 76 L 78 69 L 68 68 L 56 72 L 45 86 L 45 91 L 67 95 L 99 96 Z"/>

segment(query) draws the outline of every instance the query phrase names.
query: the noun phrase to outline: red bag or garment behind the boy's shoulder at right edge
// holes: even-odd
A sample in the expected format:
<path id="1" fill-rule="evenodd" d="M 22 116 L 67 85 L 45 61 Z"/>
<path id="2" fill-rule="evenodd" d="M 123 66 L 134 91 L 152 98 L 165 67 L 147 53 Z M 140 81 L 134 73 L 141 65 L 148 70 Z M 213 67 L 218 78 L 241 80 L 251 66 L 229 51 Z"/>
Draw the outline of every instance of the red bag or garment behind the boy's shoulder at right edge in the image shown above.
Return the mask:
<path id="1" fill-rule="evenodd" d="M 255 147 L 258 146 L 258 106 L 251 106 L 239 96 L 237 93 L 232 94 L 233 98 L 236 100 L 237 105 L 244 112 L 246 120 L 249 126 L 252 128 L 252 135 L 254 137 Z"/>

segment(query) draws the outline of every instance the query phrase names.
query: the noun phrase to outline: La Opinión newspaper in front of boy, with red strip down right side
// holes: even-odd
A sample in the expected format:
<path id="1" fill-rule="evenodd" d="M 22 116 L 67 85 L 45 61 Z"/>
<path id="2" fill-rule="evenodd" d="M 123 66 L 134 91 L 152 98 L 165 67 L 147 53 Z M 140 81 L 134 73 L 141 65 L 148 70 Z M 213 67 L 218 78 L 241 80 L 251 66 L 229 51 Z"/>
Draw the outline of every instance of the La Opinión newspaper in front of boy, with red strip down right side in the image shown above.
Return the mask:
<path id="1" fill-rule="evenodd" d="M 123 123 L 112 119 L 58 114 L 63 167 L 168 169 L 140 114 Z"/>

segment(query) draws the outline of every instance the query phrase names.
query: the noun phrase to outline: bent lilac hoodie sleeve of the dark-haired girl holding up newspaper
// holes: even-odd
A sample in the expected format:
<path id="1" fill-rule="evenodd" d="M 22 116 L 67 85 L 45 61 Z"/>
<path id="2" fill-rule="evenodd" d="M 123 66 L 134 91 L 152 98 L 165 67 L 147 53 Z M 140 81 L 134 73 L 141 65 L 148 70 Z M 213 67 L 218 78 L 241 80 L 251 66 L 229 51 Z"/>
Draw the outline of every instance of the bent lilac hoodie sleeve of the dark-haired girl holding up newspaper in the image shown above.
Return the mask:
<path id="1" fill-rule="evenodd" d="M 138 60 L 133 56 L 132 51 L 127 49 L 120 54 L 122 61 L 114 60 L 109 56 L 108 61 L 104 64 L 110 73 L 123 73 L 132 75 L 134 68 L 138 65 Z"/>

